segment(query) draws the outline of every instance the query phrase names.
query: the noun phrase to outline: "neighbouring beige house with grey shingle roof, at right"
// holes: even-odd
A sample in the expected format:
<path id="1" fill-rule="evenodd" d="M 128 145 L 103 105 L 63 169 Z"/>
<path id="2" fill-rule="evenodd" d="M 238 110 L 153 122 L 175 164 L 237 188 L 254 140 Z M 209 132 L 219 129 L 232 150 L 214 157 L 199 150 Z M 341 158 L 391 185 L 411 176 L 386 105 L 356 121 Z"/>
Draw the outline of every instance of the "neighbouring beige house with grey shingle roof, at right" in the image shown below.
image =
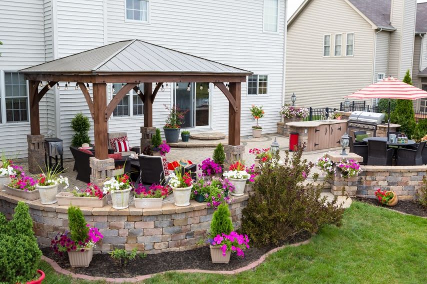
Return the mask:
<path id="1" fill-rule="evenodd" d="M 386 76 L 427 90 L 427 3 L 305 0 L 287 21 L 285 102 L 339 108 Z M 373 103 L 373 102 L 372 102 Z M 427 111 L 427 100 L 415 103 Z"/>

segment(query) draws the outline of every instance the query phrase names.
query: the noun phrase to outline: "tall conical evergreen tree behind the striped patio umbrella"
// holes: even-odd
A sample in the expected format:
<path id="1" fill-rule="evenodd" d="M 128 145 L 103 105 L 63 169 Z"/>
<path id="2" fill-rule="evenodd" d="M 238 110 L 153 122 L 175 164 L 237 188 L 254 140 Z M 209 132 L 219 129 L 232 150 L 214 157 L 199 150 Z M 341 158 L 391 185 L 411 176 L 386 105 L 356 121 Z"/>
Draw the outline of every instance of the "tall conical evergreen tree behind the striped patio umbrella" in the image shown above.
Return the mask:
<path id="1" fill-rule="evenodd" d="M 410 78 L 409 70 L 406 71 L 406 74 L 403 78 L 403 82 L 406 84 L 412 84 Z M 415 133 L 415 113 L 413 111 L 413 104 L 411 100 L 397 100 L 396 108 L 391 113 L 391 122 L 400 124 L 399 131 L 403 132 L 410 139 Z"/>

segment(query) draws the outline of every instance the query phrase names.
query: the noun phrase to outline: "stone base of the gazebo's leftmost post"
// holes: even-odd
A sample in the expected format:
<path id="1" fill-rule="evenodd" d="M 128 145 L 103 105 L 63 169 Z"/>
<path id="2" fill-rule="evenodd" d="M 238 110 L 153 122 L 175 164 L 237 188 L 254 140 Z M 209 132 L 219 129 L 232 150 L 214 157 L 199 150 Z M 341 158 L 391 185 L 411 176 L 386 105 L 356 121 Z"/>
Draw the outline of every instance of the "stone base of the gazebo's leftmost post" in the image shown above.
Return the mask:
<path id="1" fill-rule="evenodd" d="M 28 171 L 31 174 L 40 173 L 40 168 L 44 171 L 44 135 L 26 135 L 28 142 Z"/>

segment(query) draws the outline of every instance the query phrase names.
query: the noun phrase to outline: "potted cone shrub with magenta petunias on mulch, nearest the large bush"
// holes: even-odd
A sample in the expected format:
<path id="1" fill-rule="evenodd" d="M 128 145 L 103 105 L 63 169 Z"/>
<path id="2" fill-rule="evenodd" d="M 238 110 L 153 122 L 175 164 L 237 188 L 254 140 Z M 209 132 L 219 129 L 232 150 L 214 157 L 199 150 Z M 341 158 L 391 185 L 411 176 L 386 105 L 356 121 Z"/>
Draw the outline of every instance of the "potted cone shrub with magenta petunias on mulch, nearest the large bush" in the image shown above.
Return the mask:
<path id="1" fill-rule="evenodd" d="M 244 257 L 249 248 L 249 238 L 233 232 L 228 205 L 221 204 L 213 213 L 210 222 L 210 258 L 212 263 L 228 263 L 231 252 Z"/>

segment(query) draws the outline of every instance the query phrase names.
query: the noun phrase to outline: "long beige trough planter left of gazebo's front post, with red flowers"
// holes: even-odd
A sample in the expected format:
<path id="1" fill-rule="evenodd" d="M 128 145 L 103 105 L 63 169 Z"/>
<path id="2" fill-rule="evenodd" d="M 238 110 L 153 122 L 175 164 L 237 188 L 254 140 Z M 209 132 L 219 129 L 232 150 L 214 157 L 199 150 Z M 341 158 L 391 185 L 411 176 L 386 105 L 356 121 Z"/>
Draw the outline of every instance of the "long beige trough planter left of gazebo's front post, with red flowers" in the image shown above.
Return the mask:
<path id="1" fill-rule="evenodd" d="M 106 195 L 95 184 L 88 183 L 86 188 L 71 192 L 60 192 L 56 195 L 58 205 L 101 208 L 106 205 Z"/>

